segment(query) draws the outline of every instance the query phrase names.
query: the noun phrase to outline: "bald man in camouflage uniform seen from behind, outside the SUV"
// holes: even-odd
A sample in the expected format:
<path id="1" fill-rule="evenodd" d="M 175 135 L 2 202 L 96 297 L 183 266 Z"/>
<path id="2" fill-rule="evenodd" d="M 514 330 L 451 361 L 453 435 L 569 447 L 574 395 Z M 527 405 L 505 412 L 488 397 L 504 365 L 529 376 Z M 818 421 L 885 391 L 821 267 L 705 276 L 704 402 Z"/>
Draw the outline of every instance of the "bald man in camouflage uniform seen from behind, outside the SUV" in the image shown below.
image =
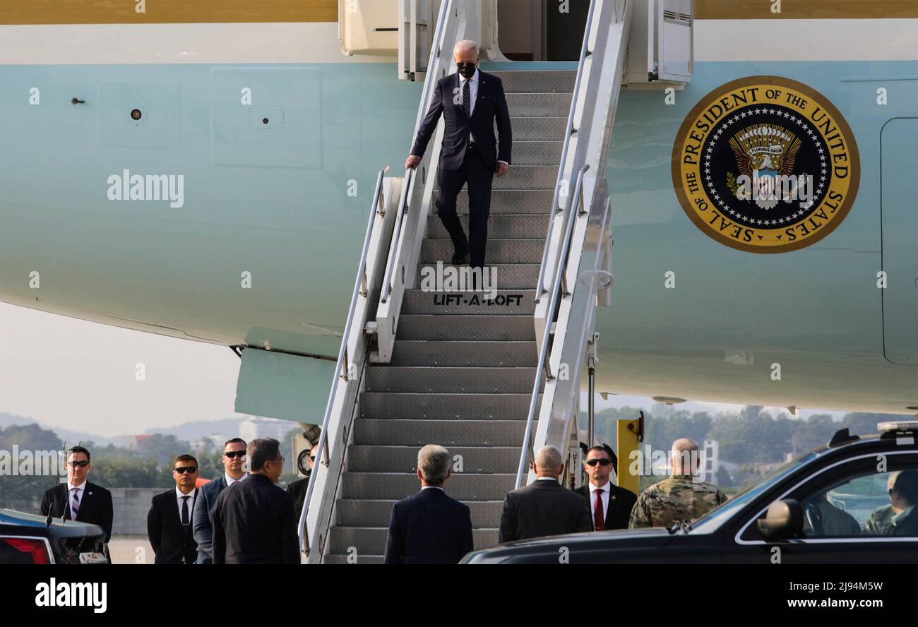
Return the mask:
<path id="1" fill-rule="evenodd" d="M 727 501 L 719 487 L 692 480 L 700 466 L 698 442 L 689 438 L 673 442 L 670 462 L 673 474 L 637 498 L 628 529 L 668 528 L 679 521 L 694 521 Z"/>

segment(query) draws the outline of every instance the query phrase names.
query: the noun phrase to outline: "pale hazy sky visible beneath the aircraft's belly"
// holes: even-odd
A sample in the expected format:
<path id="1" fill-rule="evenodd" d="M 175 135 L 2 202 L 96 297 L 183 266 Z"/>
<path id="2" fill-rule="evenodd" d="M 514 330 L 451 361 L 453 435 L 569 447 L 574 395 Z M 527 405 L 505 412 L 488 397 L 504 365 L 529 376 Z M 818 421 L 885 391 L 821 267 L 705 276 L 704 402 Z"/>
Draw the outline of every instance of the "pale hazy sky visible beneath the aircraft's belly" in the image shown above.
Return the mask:
<path id="1" fill-rule="evenodd" d="M 106 437 L 242 416 L 233 411 L 240 359 L 226 346 L 5 303 L 0 303 L 0 329 L 0 413 Z M 139 362 L 146 365 L 145 381 L 135 379 Z M 625 405 L 651 409 L 654 401 L 621 396 L 596 400 L 597 410 Z M 740 407 L 692 402 L 678 409 L 716 413 Z"/>

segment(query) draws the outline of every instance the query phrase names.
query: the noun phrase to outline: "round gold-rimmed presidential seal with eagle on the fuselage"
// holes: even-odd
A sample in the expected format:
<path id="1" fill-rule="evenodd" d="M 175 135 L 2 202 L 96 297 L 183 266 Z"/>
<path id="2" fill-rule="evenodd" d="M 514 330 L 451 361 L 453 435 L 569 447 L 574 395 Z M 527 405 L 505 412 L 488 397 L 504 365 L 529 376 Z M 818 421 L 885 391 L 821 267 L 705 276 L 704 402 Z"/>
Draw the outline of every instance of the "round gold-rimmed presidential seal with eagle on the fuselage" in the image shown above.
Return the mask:
<path id="1" fill-rule="evenodd" d="M 748 252 L 787 252 L 831 233 L 854 203 L 857 145 L 823 95 L 750 76 L 701 98 L 673 146 L 673 185 L 708 236 Z"/>

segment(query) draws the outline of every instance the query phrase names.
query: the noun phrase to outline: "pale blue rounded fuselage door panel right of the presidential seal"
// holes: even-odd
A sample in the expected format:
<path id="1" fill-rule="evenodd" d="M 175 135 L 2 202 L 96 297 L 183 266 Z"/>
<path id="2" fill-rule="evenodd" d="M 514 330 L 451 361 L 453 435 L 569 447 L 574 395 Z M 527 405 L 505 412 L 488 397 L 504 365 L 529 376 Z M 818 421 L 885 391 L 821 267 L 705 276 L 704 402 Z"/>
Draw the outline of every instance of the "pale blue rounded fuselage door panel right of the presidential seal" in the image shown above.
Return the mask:
<path id="1" fill-rule="evenodd" d="M 880 133 L 883 349 L 918 364 L 918 118 L 892 118 Z"/>

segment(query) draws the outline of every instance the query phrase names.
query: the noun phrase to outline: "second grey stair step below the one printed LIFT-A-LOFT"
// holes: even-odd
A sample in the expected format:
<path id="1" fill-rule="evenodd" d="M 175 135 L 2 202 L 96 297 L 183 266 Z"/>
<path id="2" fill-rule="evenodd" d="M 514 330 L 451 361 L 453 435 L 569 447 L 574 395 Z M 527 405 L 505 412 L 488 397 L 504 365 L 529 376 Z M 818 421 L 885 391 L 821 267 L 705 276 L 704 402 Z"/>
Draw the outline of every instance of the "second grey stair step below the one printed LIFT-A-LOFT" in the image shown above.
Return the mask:
<path id="1" fill-rule="evenodd" d="M 391 365 L 535 366 L 534 341 L 396 340 Z"/>

